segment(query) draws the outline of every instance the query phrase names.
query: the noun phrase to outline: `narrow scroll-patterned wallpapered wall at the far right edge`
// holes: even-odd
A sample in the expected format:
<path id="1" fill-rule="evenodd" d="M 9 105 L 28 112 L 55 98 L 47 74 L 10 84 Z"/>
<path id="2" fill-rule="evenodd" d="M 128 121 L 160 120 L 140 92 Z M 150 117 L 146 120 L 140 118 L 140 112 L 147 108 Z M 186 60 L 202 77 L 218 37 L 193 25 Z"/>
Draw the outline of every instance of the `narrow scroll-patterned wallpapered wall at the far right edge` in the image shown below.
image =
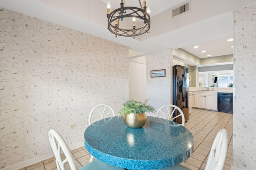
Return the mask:
<path id="1" fill-rule="evenodd" d="M 234 12 L 233 166 L 256 170 L 256 4 Z"/>

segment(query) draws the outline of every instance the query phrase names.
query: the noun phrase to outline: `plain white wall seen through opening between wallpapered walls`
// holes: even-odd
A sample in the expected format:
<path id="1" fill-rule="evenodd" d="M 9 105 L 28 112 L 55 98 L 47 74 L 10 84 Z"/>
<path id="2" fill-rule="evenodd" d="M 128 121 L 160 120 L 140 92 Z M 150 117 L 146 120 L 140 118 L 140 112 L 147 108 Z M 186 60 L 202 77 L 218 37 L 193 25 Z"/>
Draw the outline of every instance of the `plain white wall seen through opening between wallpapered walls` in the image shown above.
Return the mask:
<path id="1" fill-rule="evenodd" d="M 147 99 L 146 81 L 146 64 L 129 62 L 129 99 Z"/>

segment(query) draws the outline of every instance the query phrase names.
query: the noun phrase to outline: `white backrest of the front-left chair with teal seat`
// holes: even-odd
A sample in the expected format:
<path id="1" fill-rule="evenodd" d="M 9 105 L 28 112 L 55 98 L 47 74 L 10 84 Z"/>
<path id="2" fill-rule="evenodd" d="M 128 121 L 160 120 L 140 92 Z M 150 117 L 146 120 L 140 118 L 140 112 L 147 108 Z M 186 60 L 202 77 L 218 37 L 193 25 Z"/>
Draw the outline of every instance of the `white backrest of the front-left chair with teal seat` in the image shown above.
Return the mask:
<path id="1" fill-rule="evenodd" d="M 78 170 L 76 162 L 72 157 L 72 153 L 70 152 L 68 145 L 66 144 L 64 139 L 61 137 L 61 135 L 54 129 L 51 129 L 48 135 L 49 135 L 52 151 L 56 158 L 57 169 L 65 170 L 65 163 L 68 162 L 71 170 Z M 62 156 L 61 156 L 62 152 L 66 156 L 64 160 L 62 160 Z"/>

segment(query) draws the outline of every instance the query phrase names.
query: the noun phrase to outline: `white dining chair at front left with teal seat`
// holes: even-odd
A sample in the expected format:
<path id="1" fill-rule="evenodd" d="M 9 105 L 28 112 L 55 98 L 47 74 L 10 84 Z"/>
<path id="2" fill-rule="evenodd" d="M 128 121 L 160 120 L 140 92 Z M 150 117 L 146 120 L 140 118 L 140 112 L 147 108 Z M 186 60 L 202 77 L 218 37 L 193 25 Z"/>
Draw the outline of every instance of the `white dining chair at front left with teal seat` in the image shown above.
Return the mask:
<path id="1" fill-rule="evenodd" d="M 71 170 L 78 170 L 78 167 L 72 156 L 72 153 L 70 152 L 68 145 L 66 144 L 64 139 L 61 137 L 61 135 L 54 129 L 51 129 L 48 135 L 49 135 L 52 151 L 56 158 L 55 161 L 57 164 L 57 169 L 65 170 L 65 168 L 67 168 Z M 62 152 L 64 153 L 65 157 L 62 157 Z M 68 167 L 68 165 L 70 166 L 70 168 Z M 110 164 L 107 164 L 105 162 L 102 162 L 96 159 L 90 162 L 89 164 L 87 164 L 86 166 L 80 168 L 80 170 L 125 170 L 125 169 L 112 166 Z"/>

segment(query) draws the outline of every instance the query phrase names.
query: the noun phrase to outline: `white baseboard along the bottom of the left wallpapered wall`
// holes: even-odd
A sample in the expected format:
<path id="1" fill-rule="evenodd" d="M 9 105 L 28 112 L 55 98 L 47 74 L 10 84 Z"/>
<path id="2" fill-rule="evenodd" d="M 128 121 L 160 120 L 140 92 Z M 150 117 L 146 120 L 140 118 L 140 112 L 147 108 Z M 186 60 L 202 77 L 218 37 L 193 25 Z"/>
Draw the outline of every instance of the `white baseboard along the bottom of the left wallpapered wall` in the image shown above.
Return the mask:
<path id="1" fill-rule="evenodd" d="M 69 147 L 70 150 L 74 150 L 74 149 L 77 149 L 79 147 L 83 147 L 84 146 L 84 142 L 81 142 L 81 143 L 77 143 L 76 145 L 72 145 Z M 38 156 L 36 158 L 32 158 L 30 160 L 25 160 L 23 162 L 20 162 L 18 164 L 14 164 L 14 165 L 11 165 L 11 166 L 8 166 L 8 167 L 5 167 L 5 168 L 2 168 L 1 170 L 19 170 L 21 168 L 24 168 L 24 167 L 27 167 L 27 166 L 30 166 L 32 164 L 35 164 L 37 162 L 41 162 L 43 160 L 46 160 L 46 159 L 49 159 L 49 158 L 52 158 L 54 156 L 53 152 L 50 152 L 50 153 L 47 153 L 47 154 L 43 154 L 41 156 Z"/>

